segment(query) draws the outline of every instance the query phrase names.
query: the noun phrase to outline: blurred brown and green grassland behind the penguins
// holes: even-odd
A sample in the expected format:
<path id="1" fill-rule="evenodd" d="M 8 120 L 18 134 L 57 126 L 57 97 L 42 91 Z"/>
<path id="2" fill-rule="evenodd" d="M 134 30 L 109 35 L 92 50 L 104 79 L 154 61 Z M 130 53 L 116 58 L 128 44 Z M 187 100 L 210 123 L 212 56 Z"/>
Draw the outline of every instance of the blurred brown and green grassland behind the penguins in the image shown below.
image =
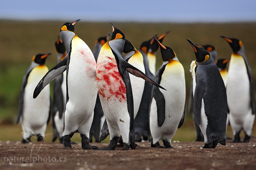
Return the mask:
<path id="1" fill-rule="evenodd" d="M 18 97 L 23 75 L 31 63 L 33 55 L 38 53 L 53 54 L 47 58 L 46 65 L 52 68 L 56 62 L 54 43 L 59 30 L 65 23 L 62 21 L 8 21 L 0 20 L 0 140 L 21 140 L 21 126 L 15 125 L 18 109 Z M 125 38 L 139 48 L 140 43 L 150 39 L 154 34 L 170 33 L 163 44 L 171 47 L 183 64 L 186 76 L 186 99 L 188 100 L 191 74 L 190 63 L 195 59 L 191 46 L 186 41 L 190 39 L 197 44 L 212 44 L 218 52 L 218 58 L 230 57 L 232 50 L 228 43 L 219 36 L 236 37 L 245 46 L 247 59 L 256 83 L 256 23 L 114 23 Z M 93 51 L 95 40 L 111 32 L 109 23 L 79 22 L 75 26 L 76 34 L 87 43 Z M 157 68 L 162 64 L 160 51 L 157 51 Z M 51 83 L 51 86 L 53 83 Z M 47 133 L 52 133 L 51 122 Z M 228 136 L 232 136 L 230 127 Z M 253 135 L 256 135 L 254 127 Z M 52 134 L 46 136 L 50 141 Z M 80 142 L 79 135 L 73 137 Z M 195 140 L 195 132 L 191 113 L 186 113 L 186 119 L 173 140 Z M 105 141 L 107 142 L 107 141 Z"/>

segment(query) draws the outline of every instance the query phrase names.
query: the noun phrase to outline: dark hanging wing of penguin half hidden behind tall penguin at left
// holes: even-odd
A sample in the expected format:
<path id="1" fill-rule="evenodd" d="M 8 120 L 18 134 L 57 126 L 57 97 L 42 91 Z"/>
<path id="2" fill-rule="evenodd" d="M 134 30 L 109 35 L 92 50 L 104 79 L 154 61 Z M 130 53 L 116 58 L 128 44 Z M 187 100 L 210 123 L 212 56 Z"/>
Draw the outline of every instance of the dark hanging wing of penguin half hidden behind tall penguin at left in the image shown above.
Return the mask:
<path id="1" fill-rule="evenodd" d="M 64 112 L 64 96 L 61 90 L 61 84 L 63 82 L 63 74 L 55 79 L 54 86 L 53 86 L 53 102 L 52 102 L 52 109 L 53 109 L 53 118 L 55 114 L 59 113 L 59 118 Z"/>

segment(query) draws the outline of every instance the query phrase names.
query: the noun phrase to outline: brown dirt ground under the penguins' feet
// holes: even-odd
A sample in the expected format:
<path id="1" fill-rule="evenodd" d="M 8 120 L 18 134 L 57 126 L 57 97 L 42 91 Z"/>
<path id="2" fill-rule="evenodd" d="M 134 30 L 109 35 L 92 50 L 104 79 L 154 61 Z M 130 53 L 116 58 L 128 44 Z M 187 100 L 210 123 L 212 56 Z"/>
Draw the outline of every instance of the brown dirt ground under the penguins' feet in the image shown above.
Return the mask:
<path id="1" fill-rule="evenodd" d="M 107 144 L 93 143 L 98 147 Z M 229 143 L 215 149 L 199 148 L 203 142 L 172 142 L 172 149 L 151 148 L 138 142 L 136 150 L 83 150 L 81 144 L 64 149 L 62 144 L 0 142 L 0 169 L 76 170 L 255 170 L 256 137 L 250 143 Z M 160 143 L 161 144 L 161 143 Z"/>

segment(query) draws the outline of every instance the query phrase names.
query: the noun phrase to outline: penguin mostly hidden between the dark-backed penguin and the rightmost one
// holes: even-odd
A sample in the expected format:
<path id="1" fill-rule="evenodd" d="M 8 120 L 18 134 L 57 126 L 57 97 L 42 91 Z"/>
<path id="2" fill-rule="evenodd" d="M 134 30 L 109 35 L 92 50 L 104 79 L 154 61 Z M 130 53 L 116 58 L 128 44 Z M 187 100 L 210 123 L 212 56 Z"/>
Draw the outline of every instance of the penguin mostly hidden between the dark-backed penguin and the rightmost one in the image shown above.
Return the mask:
<path id="1" fill-rule="evenodd" d="M 227 63 L 230 61 L 230 59 L 218 59 L 216 62 L 216 65 L 221 73 L 221 77 L 223 79 L 225 87 L 227 87 Z M 227 122 L 226 122 L 226 127 L 229 123 L 229 113 L 227 114 Z"/>

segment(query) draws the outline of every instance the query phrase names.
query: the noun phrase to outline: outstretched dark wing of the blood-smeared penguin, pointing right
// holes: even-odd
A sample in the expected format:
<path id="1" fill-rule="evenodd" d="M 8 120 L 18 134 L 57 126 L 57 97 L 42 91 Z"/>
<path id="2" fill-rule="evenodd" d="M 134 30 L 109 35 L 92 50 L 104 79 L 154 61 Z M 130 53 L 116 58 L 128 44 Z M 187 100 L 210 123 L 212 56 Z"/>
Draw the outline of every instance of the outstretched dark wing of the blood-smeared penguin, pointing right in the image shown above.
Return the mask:
<path id="1" fill-rule="evenodd" d="M 151 83 L 152 85 L 155 85 L 155 86 L 157 86 L 159 88 L 162 88 L 163 90 L 166 90 L 165 88 L 163 88 L 162 86 L 160 86 L 159 84 L 154 82 L 152 79 L 150 79 L 147 75 L 145 75 L 138 68 L 132 66 L 128 62 L 125 62 L 125 60 L 123 60 L 123 61 L 124 62 L 122 62 L 122 66 L 125 68 L 126 71 L 128 71 L 129 73 L 133 74 L 136 77 L 140 77 L 140 78 L 146 80 L 147 82 Z"/>

